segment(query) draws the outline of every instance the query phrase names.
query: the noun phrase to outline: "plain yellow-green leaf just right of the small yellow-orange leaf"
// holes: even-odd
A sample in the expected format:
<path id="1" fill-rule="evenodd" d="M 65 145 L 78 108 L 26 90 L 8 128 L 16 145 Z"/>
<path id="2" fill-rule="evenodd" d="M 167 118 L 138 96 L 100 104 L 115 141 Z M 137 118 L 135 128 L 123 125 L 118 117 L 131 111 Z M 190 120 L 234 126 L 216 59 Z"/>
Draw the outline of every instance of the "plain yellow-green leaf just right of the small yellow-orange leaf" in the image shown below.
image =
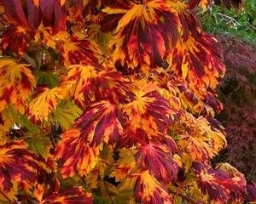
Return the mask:
<path id="1" fill-rule="evenodd" d="M 61 101 L 53 113 L 52 122 L 59 122 L 64 130 L 73 126 L 73 122 L 82 114 L 74 101 Z"/>

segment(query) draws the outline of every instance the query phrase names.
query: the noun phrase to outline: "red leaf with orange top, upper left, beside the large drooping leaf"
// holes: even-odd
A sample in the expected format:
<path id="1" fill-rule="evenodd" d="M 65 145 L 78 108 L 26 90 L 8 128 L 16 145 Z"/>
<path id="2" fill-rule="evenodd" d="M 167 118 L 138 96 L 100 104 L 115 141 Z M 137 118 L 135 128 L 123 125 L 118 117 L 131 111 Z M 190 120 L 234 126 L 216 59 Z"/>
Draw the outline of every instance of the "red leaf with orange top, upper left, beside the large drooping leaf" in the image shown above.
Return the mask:
<path id="1" fill-rule="evenodd" d="M 59 51 L 64 65 L 97 65 L 100 58 L 100 50 L 95 42 L 84 40 L 79 35 L 68 37 L 61 42 Z"/>

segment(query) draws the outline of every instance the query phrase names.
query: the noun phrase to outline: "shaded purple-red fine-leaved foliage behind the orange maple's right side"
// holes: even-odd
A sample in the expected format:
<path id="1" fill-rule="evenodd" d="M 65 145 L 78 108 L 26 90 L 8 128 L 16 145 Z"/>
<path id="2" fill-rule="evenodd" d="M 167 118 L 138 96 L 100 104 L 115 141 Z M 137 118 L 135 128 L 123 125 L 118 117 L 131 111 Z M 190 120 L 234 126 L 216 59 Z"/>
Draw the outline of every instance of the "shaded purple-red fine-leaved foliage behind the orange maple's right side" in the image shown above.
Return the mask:
<path id="1" fill-rule="evenodd" d="M 256 46 L 237 37 L 219 36 L 227 73 L 219 86 L 224 111 L 218 116 L 228 145 L 220 159 L 229 161 L 250 180 L 256 179 Z"/>

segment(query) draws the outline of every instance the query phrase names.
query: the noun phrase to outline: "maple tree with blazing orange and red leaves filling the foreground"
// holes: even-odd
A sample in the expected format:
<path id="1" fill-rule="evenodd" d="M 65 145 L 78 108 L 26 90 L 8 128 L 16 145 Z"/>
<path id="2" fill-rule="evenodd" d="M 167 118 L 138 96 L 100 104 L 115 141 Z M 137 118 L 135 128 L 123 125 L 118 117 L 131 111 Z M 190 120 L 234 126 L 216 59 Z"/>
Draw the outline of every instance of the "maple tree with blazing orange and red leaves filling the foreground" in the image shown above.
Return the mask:
<path id="1" fill-rule="evenodd" d="M 194 9 L 212 1 L 0 2 L 2 202 L 255 201 L 211 164 L 225 66 Z"/>

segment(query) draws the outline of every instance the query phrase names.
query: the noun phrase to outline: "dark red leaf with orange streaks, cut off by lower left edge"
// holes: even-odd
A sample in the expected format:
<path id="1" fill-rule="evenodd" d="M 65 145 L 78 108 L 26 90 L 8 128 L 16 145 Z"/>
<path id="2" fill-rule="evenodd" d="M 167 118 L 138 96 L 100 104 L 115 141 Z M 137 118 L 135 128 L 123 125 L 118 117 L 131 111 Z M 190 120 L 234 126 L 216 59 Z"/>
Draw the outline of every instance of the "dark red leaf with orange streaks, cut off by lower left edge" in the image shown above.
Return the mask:
<path id="1" fill-rule="evenodd" d="M 0 190 L 8 194 L 15 190 L 14 186 L 20 181 L 36 180 L 41 168 L 38 157 L 27 150 L 27 144 L 24 141 L 7 142 L 1 139 L 0 147 Z"/>

